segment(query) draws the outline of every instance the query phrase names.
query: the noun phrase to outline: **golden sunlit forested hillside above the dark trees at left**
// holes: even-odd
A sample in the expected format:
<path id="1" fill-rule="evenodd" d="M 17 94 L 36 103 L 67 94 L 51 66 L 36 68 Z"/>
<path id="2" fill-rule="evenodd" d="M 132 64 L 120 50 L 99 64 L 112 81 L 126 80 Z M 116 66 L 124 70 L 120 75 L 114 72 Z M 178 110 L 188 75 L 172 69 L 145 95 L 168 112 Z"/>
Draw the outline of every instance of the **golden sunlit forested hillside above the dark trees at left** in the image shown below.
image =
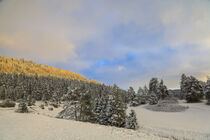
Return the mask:
<path id="1" fill-rule="evenodd" d="M 85 82 L 98 83 L 95 80 L 87 79 L 84 76 L 50 66 L 45 66 L 42 64 L 36 64 L 32 61 L 25 61 L 24 59 L 15 59 L 5 56 L 0 56 L 0 73 L 12 74 L 17 73 L 20 74 L 24 72 L 26 75 L 30 76 L 52 76 L 56 78 L 64 78 L 64 79 L 72 79 L 72 80 L 82 80 Z"/>

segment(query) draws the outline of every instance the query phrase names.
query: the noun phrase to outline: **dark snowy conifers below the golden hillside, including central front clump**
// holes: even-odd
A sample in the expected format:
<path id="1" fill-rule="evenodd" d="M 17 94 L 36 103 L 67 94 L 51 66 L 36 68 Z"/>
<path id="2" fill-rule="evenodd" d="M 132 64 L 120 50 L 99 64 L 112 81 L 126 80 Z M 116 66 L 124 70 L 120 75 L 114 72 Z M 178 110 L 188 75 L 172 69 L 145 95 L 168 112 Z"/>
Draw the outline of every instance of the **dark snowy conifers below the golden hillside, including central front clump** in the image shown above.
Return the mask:
<path id="1" fill-rule="evenodd" d="M 58 118 L 137 128 L 135 113 L 130 113 L 130 116 L 126 114 L 130 93 L 117 85 L 27 76 L 24 73 L 1 73 L 0 99 L 21 99 L 26 102 L 41 100 L 53 104 L 64 102 L 65 108 L 58 114 Z"/>

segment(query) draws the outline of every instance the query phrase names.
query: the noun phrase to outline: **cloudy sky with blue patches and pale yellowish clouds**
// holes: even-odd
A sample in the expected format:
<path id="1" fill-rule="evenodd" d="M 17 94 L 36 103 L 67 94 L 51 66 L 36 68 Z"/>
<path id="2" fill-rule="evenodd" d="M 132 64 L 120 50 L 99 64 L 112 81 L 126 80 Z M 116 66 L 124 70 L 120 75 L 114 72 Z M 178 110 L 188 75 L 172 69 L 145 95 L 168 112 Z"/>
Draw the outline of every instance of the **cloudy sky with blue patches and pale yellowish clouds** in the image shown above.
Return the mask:
<path id="1" fill-rule="evenodd" d="M 209 0 L 0 0 L 0 55 L 121 88 L 210 74 Z"/>

